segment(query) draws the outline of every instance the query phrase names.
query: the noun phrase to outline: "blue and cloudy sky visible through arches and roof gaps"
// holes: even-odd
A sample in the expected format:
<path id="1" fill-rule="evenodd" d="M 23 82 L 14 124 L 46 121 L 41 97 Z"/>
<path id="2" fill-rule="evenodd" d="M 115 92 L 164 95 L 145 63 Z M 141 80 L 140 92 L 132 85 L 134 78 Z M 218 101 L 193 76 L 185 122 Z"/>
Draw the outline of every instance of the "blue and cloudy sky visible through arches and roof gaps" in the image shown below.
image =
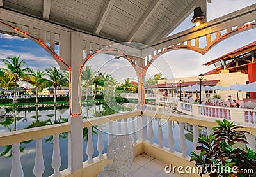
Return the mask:
<path id="1" fill-rule="evenodd" d="M 255 3 L 256 0 L 212 0 L 212 3 L 207 4 L 207 20 L 221 17 Z M 195 24 L 191 23 L 191 18 L 192 14 L 170 35 L 193 27 Z M 214 66 L 202 66 L 202 64 L 253 41 L 256 41 L 256 29 L 242 32 L 222 41 L 205 55 L 190 50 L 175 50 L 164 53 L 163 57 L 155 60 L 149 67 L 146 79 L 157 73 L 162 73 L 165 78 L 197 76 L 200 73 L 206 73 L 214 69 Z M 33 41 L 0 34 L 0 59 L 17 55 L 20 55 L 20 59 L 24 59 L 27 66 L 35 71 L 58 66 L 51 55 Z M 92 66 L 95 71 L 113 75 L 121 83 L 124 82 L 124 78 L 136 80 L 134 69 L 125 59 L 113 59 L 110 55 L 100 54 L 89 60 L 86 65 Z M 3 67 L 1 62 L 0 67 Z"/>

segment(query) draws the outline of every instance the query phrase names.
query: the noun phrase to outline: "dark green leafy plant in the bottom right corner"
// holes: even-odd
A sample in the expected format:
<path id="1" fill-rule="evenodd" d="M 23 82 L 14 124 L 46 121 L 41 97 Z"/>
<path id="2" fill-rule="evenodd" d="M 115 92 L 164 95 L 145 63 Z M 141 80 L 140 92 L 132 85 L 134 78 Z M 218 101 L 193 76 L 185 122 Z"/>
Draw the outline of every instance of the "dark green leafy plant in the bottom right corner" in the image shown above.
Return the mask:
<path id="1" fill-rule="evenodd" d="M 227 120 L 216 120 L 218 126 L 213 127 L 214 134 L 208 138 L 200 138 L 200 153 L 191 152 L 191 161 L 200 167 L 200 176 L 256 176 L 256 155 L 246 144 L 246 131 L 237 129 L 243 126 L 235 125 Z M 245 144 L 245 148 L 235 148 L 237 143 Z M 243 173 L 243 172 L 247 173 Z"/>

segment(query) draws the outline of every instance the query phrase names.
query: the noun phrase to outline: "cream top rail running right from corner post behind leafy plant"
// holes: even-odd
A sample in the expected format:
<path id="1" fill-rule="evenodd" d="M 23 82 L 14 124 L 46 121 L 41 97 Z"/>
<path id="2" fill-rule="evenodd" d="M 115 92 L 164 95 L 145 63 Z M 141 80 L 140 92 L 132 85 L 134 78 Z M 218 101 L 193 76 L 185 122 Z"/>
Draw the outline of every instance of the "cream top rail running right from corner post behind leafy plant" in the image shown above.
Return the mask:
<path id="1" fill-rule="evenodd" d="M 143 115 L 161 118 L 162 120 L 174 120 L 177 122 L 184 122 L 184 123 L 200 125 L 200 126 L 204 126 L 204 127 L 214 127 L 214 126 L 218 125 L 216 120 L 221 120 L 220 118 L 195 117 L 195 116 L 191 116 L 191 115 L 180 115 L 180 114 L 176 114 L 176 113 L 172 113 L 172 114 L 163 113 L 163 112 L 156 113 L 156 111 L 144 111 Z M 235 124 L 244 126 L 243 130 L 248 131 L 251 134 L 256 136 L 255 125 L 243 123 L 243 122 L 235 122 Z"/>

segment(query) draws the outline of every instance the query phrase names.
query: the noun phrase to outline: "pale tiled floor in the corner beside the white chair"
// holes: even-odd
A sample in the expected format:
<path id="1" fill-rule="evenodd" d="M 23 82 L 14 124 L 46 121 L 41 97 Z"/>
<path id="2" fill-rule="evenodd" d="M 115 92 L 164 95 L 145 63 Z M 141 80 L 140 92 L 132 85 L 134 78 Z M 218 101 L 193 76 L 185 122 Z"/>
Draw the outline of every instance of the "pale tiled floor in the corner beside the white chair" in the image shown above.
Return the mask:
<path id="1" fill-rule="evenodd" d="M 129 171 L 128 177 L 182 177 L 187 176 L 186 174 L 177 174 L 177 173 L 165 173 L 164 167 L 166 167 L 167 164 L 164 164 L 163 162 L 154 159 L 153 157 L 150 157 L 146 155 L 145 153 L 142 153 L 141 155 L 138 155 L 137 157 L 134 157 L 132 167 Z"/>

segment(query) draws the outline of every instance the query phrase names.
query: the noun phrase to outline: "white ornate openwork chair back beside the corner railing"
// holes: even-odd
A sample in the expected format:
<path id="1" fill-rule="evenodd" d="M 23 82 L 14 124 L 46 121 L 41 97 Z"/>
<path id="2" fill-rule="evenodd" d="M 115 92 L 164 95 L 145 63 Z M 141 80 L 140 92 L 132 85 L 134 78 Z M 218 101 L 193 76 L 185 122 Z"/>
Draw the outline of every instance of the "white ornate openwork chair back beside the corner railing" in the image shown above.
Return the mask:
<path id="1" fill-rule="evenodd" d="M 98 177 L 127 176 L 133 161 L 133 145 L 129 136 L 116 136 L 108 146 L 107 158 L 113 159 L 111 165 L 106 165 Z"/>

